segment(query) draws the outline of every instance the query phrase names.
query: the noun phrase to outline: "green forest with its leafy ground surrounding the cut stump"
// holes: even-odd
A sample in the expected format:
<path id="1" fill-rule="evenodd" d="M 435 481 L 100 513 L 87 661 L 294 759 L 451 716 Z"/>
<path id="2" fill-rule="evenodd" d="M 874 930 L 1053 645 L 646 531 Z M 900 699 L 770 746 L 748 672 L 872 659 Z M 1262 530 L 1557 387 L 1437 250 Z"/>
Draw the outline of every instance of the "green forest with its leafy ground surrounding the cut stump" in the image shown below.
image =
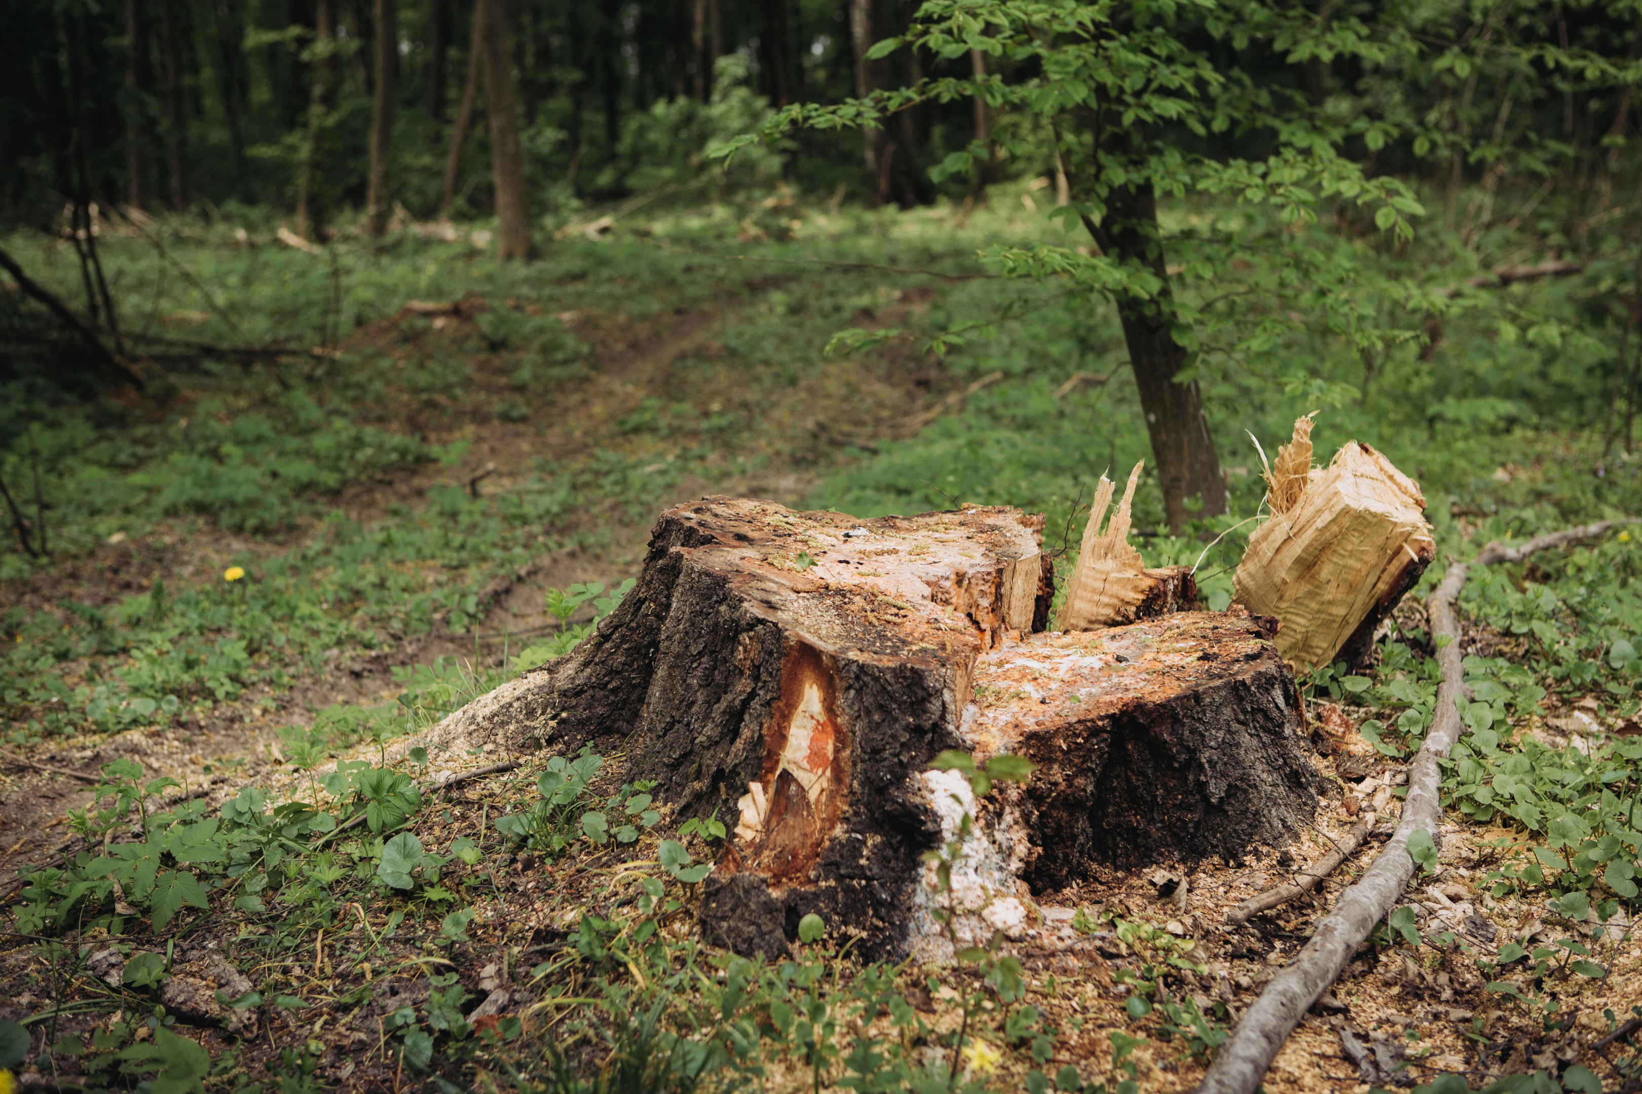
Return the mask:
<path id="1" fill-rule="evenodd" d="M 30 1084 L 1190 1089 L 1337 886 L 1245 930 L 1212 894 L 1327 833 L 1204 864 L 1189 915 L 1140 874 L 1038 894 L 1076 966 L 869 966 L 824 923 L 749 963 L 695 932 L 724 833 L 619 754 L 435 794 L 419 735 L 575 646 L 711 492 L 1021 505 L 1064 576 L 1102 471 L 1146 459 L 1146 563 L 1222 609 L 1250 438 L 1317 412 L 1438 545 L 1373 666 L 1300 681 L 1350 794 L 1342 740 L 1396 769 L 1432 725 L 1447 559 L 1642 513 L 1635 3 L 0 28 L 0 1068 Z M 1642 1083 L 1635 543 L 1473 576 L 1442 861 L 1266 1089 Z"/>

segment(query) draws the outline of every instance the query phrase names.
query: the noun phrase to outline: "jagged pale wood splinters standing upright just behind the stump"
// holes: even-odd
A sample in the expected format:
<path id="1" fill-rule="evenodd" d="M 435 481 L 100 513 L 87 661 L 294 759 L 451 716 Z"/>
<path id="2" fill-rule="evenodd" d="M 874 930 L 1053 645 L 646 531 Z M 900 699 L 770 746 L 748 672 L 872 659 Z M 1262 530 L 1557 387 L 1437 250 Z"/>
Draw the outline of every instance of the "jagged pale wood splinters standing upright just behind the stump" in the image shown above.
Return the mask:
<path id="1" fill-rule="evenodd" d="M 1128 541 L 1130 505 L 1135 500 L 1135 484 L 1144 461 L 1135 464 L 1128 485 L 1123 487 L 1123 500 L 1118 502 L 1112 520 L 1102 531 L 1100 522 L 1112 505 L 1113 484 L 1100 476 L 1100 487 L 1095 490 L 1095 502 L 1089 507 L 1089 525 L 1084 528 L 1084 541 L 1077 554 L 1077 569 L 1066 589 L 1066 604 L 1061 607 L 1059 630 L 1098 630 L 1102 627 L 1121 627 L 1141 618 L 1153 618 L 1166 612 L 1177 612 L 1182 604 L 1197 599 L 1197 584 L 1187 566 L 1163 566 L 1146 569 Z"/>

